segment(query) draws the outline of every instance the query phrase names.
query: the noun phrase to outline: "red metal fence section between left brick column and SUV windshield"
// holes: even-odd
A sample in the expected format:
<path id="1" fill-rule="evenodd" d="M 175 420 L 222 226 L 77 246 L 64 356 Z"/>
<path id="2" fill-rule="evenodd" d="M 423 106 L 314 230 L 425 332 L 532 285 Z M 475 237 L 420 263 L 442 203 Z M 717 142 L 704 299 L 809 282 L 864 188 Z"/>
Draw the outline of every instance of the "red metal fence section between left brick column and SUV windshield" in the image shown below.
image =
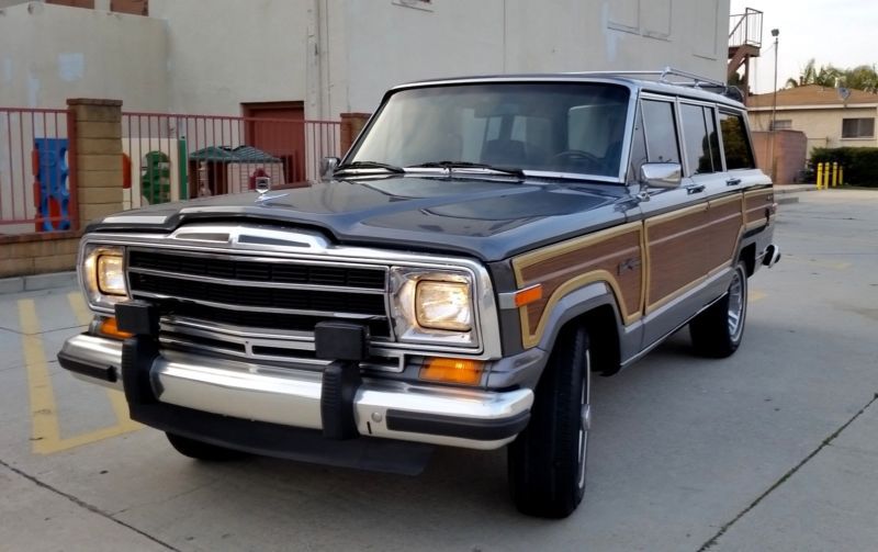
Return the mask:
<path id="1" fill-rule="evenodd" d="M 125 207 L 252 189 L 304 185 L 340 155 L 340 123 L 123 112 Z"/>

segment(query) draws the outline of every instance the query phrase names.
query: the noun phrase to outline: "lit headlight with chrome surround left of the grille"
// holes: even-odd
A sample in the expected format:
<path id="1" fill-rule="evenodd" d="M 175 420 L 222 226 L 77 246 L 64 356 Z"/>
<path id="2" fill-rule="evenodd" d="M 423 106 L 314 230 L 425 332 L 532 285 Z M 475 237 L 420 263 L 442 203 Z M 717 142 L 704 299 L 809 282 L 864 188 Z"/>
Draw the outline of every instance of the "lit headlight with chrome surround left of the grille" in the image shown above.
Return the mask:
<path id="1" fill-rule="evenodd" d="M 89 304 L 109 311 L 128 296 L 125 282 L 125 251 L 117 246 L 87 245 L 80 267 Z"/>

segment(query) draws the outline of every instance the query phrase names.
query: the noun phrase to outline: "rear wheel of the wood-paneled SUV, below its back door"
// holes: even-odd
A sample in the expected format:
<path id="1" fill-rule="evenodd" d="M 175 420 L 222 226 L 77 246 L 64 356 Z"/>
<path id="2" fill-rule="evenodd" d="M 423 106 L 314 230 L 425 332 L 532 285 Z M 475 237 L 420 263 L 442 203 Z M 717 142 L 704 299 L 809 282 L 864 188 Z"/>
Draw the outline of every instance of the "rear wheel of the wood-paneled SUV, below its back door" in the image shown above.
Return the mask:
<path id="1" fill-rule="evenodd" d="M 747 273 L 744 263 L 740 262 L 725 295 L 689 323 L 696 351 L 717 359 L 732 354 L 744 336 L 746 316 Z"/>

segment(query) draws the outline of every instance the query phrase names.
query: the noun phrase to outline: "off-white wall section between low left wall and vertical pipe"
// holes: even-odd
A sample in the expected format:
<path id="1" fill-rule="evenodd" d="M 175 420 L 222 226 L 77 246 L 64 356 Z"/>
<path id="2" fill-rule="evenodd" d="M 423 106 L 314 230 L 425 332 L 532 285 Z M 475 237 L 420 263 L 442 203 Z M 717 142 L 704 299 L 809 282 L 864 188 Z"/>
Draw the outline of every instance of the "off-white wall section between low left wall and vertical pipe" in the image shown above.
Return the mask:
<path id="1" fill-rule="evenodd" d="M 168 26 L 169 108 L 240 115 L 240 104 L 305 100 L 308 0 L 150 0 Z"/>

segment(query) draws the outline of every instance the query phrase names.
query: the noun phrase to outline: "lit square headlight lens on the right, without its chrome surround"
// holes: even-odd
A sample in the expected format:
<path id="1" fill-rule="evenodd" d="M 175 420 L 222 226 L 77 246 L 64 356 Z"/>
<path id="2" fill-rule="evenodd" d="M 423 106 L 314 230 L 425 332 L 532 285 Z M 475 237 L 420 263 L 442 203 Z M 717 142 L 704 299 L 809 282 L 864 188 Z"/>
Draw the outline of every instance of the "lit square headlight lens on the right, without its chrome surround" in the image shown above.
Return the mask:
<path id="1" fill-rule="evenodd" d="M 425 328 L 469 331 L 472 328 L 470 284 L 421 280 L 415 293 L 417 322 Z"/>

